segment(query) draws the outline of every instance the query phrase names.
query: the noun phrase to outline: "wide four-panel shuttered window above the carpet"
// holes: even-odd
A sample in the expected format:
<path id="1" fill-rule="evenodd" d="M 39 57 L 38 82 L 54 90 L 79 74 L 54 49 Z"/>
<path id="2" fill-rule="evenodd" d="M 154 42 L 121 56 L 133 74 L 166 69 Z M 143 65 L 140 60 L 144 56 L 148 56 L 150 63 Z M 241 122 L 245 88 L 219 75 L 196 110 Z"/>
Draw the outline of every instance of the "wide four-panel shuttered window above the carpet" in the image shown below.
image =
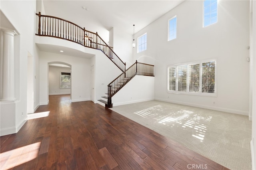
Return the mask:
<path id="1" fill-rule="evenodd" d="M 216 95 L 216 60 L 197 61 L 168 67 L 168 92 Z"/>

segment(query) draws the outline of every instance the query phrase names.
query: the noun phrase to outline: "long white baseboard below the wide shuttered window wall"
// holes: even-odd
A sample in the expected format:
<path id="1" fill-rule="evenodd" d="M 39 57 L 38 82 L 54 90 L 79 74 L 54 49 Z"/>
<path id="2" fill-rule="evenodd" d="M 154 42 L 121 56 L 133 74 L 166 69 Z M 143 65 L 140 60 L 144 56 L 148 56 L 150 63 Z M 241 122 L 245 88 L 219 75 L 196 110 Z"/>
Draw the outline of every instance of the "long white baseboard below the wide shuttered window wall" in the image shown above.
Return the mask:
<path id="1" fill-rule="evenodd" d="M 198 104 L 194 104 L 194 103 L 186 103 L 186 102 L 180 102 L 180 101 L 170 101 L 170 100 L 165 100 L 165 99 L 160 99 L 160 98 L 155 98 L 155 100 L 249 116 L 249 112 L 246 112 L 246 111 L 239 111 L 239 110 L 227 109 L 227 108 L 222 108 L 222 107 L 212 107 L 212 106 L 207 106 L 207 105 L 198 105 Z"/>

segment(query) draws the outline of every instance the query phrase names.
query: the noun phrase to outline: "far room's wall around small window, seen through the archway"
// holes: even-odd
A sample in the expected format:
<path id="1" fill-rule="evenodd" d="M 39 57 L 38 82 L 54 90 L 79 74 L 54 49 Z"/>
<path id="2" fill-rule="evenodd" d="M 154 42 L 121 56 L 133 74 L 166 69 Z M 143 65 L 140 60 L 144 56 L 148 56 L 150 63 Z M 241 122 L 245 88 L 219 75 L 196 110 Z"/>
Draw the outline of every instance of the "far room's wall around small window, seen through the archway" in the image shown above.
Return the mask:
<path id="1" fill-rule="evenodd" d="M 70 73 L 70 67 L 56 67 L 49 65 L 49 95 L 70 94 L 70 89 L 60 89 L 61 72 Z M 71 77 L 72 80 L 72 77 Z"/>

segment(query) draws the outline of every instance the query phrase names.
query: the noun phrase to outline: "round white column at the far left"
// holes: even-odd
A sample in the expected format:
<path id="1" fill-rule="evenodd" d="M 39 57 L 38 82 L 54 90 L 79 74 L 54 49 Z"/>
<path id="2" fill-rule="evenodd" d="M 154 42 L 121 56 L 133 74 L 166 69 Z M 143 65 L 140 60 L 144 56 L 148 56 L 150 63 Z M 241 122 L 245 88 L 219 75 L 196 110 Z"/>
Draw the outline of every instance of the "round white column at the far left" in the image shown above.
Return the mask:
<path id="1" fill-rule="evenodd" d="M 2 96 L 1 101 L 14 101 L 14 35 L 11 30 L 3 30 Z"/>

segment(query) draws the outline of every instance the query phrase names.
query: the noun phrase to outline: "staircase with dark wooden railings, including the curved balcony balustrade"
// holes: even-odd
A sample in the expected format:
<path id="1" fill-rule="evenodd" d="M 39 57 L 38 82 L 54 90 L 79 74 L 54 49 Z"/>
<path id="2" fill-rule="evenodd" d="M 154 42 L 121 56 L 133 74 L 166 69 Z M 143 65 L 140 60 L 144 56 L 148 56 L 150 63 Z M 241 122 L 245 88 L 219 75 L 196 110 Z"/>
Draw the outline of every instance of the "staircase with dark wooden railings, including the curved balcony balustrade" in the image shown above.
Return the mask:
<path id="1" fill-rule="evenodd" d="M 67 20 L 41 15 L 38 16 L 37 36 L 48 36 L 68 40 L 74 43 L 101 50 L 123 73 L 108 84 L 108 93 L 98 100 L 105 104 L 105 107 L 113 107 L 112 97 L 126 85 L 135 75 L 154 76 L 154 65 L 136 62 L 126 69 L 124 63 L 98 33 L 93 33 Z"/>

